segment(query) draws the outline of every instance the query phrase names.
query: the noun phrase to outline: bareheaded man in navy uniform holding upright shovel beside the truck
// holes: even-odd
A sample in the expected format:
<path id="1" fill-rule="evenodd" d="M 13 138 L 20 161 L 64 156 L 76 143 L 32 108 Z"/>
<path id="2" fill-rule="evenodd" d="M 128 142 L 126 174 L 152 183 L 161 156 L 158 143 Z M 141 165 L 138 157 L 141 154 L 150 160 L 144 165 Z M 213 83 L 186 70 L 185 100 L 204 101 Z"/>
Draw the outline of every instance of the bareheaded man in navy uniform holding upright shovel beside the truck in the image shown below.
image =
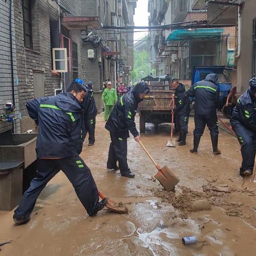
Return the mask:
<path id="1" fill-rule="evenodd" d="M 189 119 L 189 97 L 186 94 L 185 85 L 179 83 L 178 79 L 172 79 L 171 86 L 174 89 L 175 102 L 175 122 L 180 134 L 177 140 L 179 146 L 186 145 L 186 138 L 188 133 L 188 119 Z"/>

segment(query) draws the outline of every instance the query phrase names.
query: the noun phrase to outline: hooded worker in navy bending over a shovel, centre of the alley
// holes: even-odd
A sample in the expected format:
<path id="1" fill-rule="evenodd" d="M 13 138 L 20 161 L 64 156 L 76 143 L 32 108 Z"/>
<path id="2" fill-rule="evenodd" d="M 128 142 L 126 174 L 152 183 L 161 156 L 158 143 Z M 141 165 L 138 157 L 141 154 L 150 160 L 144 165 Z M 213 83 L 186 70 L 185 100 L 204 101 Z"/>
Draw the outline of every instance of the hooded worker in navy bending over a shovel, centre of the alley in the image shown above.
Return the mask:
<path id="1" fill-rule="evenodd" d="M 141 102 L 145 94 L 149 93 L 147 83 L 140 82 L 133 89 L 124 94 L 112 110 L 105 128 L 110 132 L 111 143 L 108 152 L 108 170 L 120 169 L 121 175 L 134 178 L 127 164 L 127 138 L 129 131 L 134 140 L 139 142 L 140 135 L 134 122 L 138 103 Z M 119 168 L 117 166 L 117 161 Z"/>

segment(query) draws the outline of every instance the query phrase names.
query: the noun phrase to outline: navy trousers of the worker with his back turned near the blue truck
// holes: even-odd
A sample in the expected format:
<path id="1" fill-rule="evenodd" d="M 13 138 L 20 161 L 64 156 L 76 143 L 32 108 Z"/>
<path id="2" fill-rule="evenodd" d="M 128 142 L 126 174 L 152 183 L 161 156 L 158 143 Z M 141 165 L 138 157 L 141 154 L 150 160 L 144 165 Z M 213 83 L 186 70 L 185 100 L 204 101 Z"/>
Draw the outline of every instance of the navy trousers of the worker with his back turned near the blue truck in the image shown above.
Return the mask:
<path id="1" fill-rule="evenodd" d="M 210 130 L 211 137 L 218 136 L 219 130 L 216 113 L 210 115 L 195 114 L 194 136 L 201 137 L 204 133 L 205 125 L 207 125 L 208 129 Z"/>

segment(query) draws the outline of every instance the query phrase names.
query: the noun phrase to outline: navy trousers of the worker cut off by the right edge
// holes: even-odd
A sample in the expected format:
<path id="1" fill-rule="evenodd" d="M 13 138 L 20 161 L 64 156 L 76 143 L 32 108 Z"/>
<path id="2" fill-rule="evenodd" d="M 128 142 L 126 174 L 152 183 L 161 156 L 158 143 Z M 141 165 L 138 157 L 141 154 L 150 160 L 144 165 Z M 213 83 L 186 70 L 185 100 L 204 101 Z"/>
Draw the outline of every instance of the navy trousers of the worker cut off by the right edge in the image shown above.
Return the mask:
<path id="1" fill-rule="evenodd" d="M 245 170 L 253 170 L 256 152 L 256 133 L 234 119 L 230 119 L 230 123 L 241 145 L 243 158 L 241 174 L 243 174 Z"/>

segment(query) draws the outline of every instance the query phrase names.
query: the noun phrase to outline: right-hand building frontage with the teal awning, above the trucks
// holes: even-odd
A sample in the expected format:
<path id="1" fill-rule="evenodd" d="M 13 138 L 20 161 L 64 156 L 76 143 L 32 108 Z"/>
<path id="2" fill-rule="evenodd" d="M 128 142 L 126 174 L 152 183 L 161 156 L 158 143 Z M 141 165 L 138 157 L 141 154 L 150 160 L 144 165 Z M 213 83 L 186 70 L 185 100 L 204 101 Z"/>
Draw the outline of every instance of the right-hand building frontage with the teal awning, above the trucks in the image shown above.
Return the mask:
<path id="1" fill-rule="evenodd" d="M 177 29 L 150 32 L 151 54 L 157 75 L 168 74 L 189 80 L 193 67 L 197 65 L 234 66 L 235 27 L 207 28 L 205 23 L 202 28 L 182 28 L 189 22 L 206 22 L 206 5 L 198 8 L 194 0 L 150 0 L 149 11 L 150 26 L 179 25 Z M 236 84 L 234 73 L 228 71 L 227 75 Z"/>

